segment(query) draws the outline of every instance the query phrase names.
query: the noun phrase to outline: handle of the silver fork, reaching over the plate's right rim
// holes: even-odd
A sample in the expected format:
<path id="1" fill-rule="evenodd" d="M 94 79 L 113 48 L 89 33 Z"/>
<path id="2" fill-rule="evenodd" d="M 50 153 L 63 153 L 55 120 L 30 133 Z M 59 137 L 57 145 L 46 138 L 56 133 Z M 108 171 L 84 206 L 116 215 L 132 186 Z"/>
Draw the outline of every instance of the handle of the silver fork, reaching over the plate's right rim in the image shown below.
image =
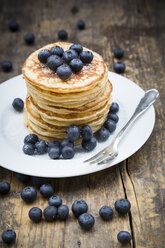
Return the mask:
<path id="1" fill-rule="evenodd" d="M 115 143 L 119 143 L 126 129 L 155 102 L 158 96 L 159 91 L 156 89 L 151 89 L 145 92 L 144 96 L 141 98 L 138 106 L 136 107 L 135 112 L 133 113 L 129 121 L 125 124 L 125 126 L 117 134 L 114 140 Z"/>

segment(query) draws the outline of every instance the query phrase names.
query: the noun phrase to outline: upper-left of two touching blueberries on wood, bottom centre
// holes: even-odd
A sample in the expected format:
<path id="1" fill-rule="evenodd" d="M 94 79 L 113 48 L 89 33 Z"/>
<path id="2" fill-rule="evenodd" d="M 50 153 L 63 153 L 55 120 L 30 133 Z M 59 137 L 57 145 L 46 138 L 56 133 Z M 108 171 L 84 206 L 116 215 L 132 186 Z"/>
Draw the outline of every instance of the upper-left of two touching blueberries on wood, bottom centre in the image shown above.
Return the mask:
<path id="1" fill-rule="evenodd" d="M 84 200 L 76 200 L 72 204 L 72 212 L 75 217 L 79 217 L 81 214 L 88 211 L 88 205 Z"/>

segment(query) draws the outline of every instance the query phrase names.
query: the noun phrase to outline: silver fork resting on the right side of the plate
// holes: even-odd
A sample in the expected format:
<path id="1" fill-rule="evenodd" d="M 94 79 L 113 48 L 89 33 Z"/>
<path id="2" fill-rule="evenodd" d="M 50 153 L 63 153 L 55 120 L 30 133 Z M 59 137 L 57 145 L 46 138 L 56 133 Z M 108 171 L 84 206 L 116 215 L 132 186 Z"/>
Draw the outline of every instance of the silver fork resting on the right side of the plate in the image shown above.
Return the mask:
<path id="1" fill-rule="evenodd" d="M 141 98 L 139 104 L 137 105 L 133 115 L 129 119 L 129 121 L 125 124 L 125 126 L 119 131 L 116 135 L 112 143 L 98 152 L 93 157 L 84 161 L 84 163 L 89 162 L 90 164 L 97 163 L 98 165 L 101 164 L 108 164 L 111 160 L 113 160 L 118 155 L 118 144 L 121 138 L 124 136 L 126 130 L 130 125 L 141 115 L 143 114 L 156 100 L 159 96 L 159 91 L 156 89 L 151 89 L 145 92 L 144 96 Z"/>

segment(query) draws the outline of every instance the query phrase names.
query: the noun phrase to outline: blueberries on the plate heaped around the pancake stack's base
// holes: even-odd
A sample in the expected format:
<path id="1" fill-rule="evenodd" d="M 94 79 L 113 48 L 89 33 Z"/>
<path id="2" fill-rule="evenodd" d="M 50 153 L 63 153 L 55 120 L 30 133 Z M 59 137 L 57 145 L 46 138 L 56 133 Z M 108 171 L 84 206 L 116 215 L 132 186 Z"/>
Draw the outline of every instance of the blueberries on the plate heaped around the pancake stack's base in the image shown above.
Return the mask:
<path id="1" fill-rule="evenodd" d="M 13 106 L 15 105 L 13 104 Z M 96 132 L 96 137 L 93 136 L 93 130 L 89 125 L 84 125 L 81 128 L 76 125 L 71 125 L 66 131 L 67 138 L 61 143 L 57 140 L 51 140 L 46 143 L 43 140 L 39 141 L 36 134 L 28 134 L 24 138 L 23 152 L 27 155 L 44 154 L 48 152 L 51 159 L 59 159 L 61 155 L 64 159 L 71 159 L 75 155 L 74 142 L 80 137 L 82 137 L 81 146 L 84 151 L 92 151 L 97 146 L 97 140 L 99 142 L 106 141 L 110 134 L 116 129 L 116 123 L 119 120 L 116 114 L 118 110 L 119 105 L 112 103 L 107 120 L 104 126 Z"/>

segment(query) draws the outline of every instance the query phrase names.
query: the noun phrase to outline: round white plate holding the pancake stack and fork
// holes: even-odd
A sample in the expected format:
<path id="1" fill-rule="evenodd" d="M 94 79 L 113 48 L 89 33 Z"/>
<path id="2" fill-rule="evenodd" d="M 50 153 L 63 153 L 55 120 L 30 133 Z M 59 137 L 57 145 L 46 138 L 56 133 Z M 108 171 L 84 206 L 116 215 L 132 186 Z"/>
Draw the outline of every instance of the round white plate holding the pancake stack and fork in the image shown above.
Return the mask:
<path id="1" fill-rule="evenodd" d="M 51 160 L 47 154 L 28 156 L 22 152 L 23 140 L 28 134 L 23 122 L 23 113 L 17 113 L 12 107 L 16 97 L 25 99 L 26 86 L 22 75 L 14 77 L 0 85 L 0 165 L 23 174 L 41 177 L 80 176 L 111 167 L 135 153 L 149 138 L 155 123 L 154 107 L 150 107 L 133 125 L 119 144 L 119 155 L 108 166 L 83 163 L 112 142 L 117 132 L 133 114 L 144 91 L 125 77 L 109 72 L 113 84 L 113 101 L 118 102 L 119 122 L 113 135 L 98 143 L 92 152 L 83 152 L 77 148 L 71 160 Z"/>

